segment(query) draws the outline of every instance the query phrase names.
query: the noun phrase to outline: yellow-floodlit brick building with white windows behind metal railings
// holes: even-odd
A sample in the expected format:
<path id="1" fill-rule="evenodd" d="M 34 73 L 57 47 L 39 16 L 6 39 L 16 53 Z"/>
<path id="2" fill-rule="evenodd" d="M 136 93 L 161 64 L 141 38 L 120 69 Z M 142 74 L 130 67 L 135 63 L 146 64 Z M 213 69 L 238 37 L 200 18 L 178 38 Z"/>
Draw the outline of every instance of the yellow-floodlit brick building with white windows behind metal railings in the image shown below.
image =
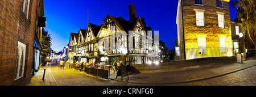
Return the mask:
<path id="1" fill-rule="evenodd" d="M 233 56 L 229 0 L 179 0 L 179 60 Z"/>

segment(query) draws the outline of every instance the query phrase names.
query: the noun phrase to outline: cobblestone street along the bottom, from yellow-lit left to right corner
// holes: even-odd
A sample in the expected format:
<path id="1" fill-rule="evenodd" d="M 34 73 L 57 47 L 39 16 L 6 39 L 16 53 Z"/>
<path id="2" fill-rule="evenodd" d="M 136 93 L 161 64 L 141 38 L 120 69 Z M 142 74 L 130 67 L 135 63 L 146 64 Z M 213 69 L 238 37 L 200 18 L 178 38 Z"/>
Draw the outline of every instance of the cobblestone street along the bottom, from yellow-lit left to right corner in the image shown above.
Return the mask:
<path id="1" fill-rule="evenodd" d="M 42 81 L 42 72 L 46 68 L 45 82 Z M 42 66 L 41 70 L 32 78 L 27 86 L 256 86 L 256 66 L 223 75 L 221 77 L 204 79 L 201 81 L 168 85 L 148 85 L 114 81 L 97 78 L 74 69 L 60 70 L 59 65 Z"/>

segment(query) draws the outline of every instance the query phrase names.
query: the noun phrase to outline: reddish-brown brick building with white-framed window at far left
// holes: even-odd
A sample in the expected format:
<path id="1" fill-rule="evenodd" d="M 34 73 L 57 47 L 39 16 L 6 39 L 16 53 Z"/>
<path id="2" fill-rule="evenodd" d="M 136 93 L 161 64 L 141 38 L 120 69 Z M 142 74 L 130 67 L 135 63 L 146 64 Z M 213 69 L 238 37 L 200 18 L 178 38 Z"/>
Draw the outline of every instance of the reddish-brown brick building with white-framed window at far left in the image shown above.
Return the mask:
<path id="1" fill-rule="evenodd" d="M 39 1 L 0 1 L 0 85 L 31 80 Z"/>

